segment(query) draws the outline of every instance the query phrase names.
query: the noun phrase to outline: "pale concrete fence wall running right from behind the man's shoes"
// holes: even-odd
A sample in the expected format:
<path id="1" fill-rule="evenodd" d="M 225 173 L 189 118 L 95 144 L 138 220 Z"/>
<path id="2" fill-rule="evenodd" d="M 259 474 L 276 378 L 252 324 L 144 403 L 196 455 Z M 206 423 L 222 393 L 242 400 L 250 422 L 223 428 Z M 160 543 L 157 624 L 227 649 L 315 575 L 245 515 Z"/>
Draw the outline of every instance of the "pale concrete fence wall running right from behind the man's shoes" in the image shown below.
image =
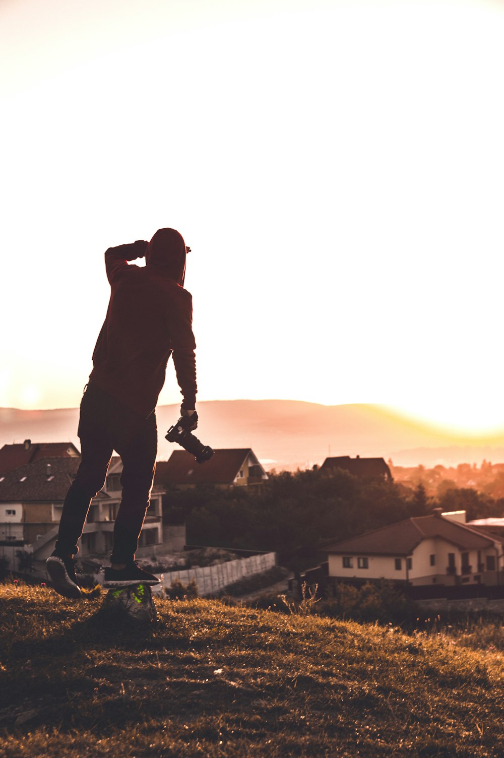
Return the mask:
<path id="1" fill-rule="evenodd" d="M 276 563 L 276 553 L 265 553 L 261 556 L 240 558 L 236 561 L 227 561 L 215 566 L 172 571 L 164 574 L 163 584 L 164 587 L 170 587 L 175 579 L 180 579 L 183 584 L 189 584 L 189 581 L 194 579 L 198 585 L 200 595 L 211 595 L 224 589 L 227 584 L 232 584 L 233 581 L 238 581 L 246 576 L 252 576 L 252 574 L 268 571 L 268 568 L 273 568 Z"/>

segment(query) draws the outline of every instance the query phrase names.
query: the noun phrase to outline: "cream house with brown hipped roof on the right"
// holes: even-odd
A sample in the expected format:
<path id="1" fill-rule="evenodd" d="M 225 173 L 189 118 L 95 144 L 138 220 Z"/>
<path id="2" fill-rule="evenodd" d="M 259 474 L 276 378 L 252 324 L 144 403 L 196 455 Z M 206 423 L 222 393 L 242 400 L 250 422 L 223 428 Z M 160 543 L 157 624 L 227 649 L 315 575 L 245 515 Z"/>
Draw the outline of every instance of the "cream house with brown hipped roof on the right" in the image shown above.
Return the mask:
<path id="1" fill-rule="evenodd" d="M 402 584 L 500 584 L 502 540 L 465 524 L 465 511 L 406 518 L 326 548 L 329 576 Z"/>

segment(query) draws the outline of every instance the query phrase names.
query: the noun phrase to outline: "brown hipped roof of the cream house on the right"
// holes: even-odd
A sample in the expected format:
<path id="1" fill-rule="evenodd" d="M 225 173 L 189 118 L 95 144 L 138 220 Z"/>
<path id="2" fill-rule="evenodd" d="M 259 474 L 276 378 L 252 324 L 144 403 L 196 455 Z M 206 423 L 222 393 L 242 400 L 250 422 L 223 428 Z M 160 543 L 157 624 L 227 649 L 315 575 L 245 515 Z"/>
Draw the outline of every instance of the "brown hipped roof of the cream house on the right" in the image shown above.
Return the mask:
<path id="1" fill-rule="evenodd" d="M 462 550 L 490 547 L 493 540 L 471 528 L 440 516 L 418 516 L 368 531 L 358 537 L 334 543 L 327 553 L 368 553 L 369 555 L 409 556 L 422 540 L 440 537 Z"/>

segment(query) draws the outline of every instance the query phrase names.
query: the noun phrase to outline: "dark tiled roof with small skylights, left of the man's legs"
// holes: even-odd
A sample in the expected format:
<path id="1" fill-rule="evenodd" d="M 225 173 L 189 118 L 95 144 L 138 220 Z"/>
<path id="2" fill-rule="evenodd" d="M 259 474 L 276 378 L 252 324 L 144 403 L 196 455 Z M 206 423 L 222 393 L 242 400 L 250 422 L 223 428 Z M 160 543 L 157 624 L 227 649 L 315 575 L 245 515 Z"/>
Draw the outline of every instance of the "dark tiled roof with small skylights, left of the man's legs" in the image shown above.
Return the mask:
<path id="1" fill-rule="evenodd" d="M 63 502 L 80 457 L 41 458 L 0 475 L 1 503 Z M 51 468 L 49 469 L 48 466 Z"/>

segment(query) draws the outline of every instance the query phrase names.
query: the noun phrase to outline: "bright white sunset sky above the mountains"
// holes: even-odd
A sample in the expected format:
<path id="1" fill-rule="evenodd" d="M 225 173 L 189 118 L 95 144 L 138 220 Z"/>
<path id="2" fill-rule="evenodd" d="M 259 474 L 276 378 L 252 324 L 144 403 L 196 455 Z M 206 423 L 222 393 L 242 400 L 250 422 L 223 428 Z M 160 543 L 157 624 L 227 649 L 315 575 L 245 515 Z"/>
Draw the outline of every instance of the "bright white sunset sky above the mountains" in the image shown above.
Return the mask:
<path id="1" fill-rule="evenodd" d="M 105 249 L 170 226 L 199 400 L 504 428 L 502 39 L 490 0 L 0 0 L 0 406 L 79 404 Z"/>

